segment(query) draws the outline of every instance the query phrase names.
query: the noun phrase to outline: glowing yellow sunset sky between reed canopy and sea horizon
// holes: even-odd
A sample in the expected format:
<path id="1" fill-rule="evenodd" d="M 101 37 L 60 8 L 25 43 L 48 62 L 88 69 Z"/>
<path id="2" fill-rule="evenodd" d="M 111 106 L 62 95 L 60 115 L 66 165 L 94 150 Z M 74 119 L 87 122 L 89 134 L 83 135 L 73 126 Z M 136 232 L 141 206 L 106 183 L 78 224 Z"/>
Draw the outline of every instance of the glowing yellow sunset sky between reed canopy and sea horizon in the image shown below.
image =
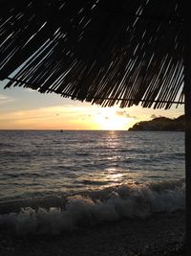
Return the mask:
<path id="1" fill-rule="evenodd" d="M 168 110 L 139 105 L 101 107 L 29 88 L 4 89 L 5 84 L 0 81 L 0 129 L 127 130 L 140 121 L 177 118 L 184 113 L 183 105 Z"/>

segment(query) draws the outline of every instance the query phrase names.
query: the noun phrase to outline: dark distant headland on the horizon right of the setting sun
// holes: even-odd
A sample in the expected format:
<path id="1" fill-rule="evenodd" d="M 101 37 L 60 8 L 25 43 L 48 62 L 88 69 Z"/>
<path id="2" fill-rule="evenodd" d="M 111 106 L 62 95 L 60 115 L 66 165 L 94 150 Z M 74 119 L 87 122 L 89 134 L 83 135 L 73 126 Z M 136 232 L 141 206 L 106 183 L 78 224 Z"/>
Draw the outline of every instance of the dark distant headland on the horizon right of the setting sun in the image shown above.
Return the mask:
<path id="1" fill-rule="evenodd" d="M 128 130 L 182 131 L 184 130 L 184 115 L 181 115 L 175 119 L 158 117 L 150 121 L 142 121 L 134 125 L 133 128 L 129 128 Z"/>

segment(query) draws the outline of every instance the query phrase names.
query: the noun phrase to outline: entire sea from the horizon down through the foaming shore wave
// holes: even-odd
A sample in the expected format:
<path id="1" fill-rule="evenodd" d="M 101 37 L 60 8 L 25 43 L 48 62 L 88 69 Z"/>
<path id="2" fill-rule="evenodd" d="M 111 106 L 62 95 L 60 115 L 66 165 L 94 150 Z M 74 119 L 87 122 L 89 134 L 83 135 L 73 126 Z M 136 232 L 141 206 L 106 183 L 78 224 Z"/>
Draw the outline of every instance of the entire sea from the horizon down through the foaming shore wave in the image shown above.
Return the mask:
<path id="1" fill-rule="evenodd" d="M 71 231 L 185 208 L 181 131 L 0 131 L 0 226 Z"/>

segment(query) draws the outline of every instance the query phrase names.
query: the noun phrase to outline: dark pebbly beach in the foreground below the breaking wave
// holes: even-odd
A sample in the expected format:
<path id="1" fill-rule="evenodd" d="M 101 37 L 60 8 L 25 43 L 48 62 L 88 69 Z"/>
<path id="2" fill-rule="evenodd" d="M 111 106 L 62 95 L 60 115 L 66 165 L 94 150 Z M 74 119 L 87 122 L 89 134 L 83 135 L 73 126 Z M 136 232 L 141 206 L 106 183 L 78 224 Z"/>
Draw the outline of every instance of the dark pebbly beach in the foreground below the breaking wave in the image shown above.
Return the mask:
<path id="1" fill-rule="evenodd" d="M 122 220 L 81 226 L 56 236 L 8 236 L 0 233 L 1 256 L 150 256 L 184 254 L 184 212 L 147 220 Z"/>

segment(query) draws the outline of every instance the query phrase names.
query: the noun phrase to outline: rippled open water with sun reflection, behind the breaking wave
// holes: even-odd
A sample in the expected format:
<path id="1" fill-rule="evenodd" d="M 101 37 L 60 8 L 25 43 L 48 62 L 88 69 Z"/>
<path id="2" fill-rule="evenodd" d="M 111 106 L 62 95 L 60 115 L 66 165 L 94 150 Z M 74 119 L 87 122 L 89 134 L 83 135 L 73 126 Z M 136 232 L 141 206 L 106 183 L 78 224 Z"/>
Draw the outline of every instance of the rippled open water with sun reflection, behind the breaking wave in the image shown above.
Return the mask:
<path id="1" fill-rule="evenodd" d="M 183 132 L 0 131 L 0 200 L 184 177 Z"/>

